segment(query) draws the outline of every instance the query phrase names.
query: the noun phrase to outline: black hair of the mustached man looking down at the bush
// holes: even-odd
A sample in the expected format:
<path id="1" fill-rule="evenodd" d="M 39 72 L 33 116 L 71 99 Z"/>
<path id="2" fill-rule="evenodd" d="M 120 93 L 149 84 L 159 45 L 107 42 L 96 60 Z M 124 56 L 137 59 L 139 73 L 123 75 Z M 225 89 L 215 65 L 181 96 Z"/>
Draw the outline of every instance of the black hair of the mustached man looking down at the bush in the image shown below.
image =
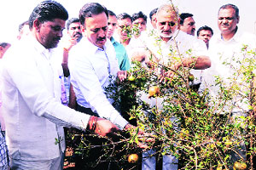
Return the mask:
<path id="1" fill-rule="evenodd" d="M 84 26 L 86 18 L 92 17 L 94 14 L 105 13 L 108 17 L 108 9 L 100 3 L 86 3 L 79 11 L 79 20 L 81 25 Z"/>

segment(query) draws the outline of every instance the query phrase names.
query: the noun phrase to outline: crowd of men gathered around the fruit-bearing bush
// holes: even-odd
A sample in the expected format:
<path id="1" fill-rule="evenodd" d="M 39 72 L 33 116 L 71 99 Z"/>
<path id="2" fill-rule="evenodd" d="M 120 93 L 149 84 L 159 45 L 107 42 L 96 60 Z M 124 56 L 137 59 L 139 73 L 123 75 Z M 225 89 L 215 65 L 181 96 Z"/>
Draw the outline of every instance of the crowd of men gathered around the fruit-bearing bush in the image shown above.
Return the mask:
<path id="1" fill-rule="evenodd" d="M 160 71 L 162 81 L 172 77 L 173 70 L 188 67 L 198 91 L 207 87 L 210 94 L 217 94 L 218 88 L 212 88 L 214 75 L 232 74 L 224 60 L 239 57 L 244 44 L 256 48 L 255 36 L 237 26 L 240 16 L 235 5 L 220 7 L 217 17 L 220 34 L 213 35 L 209 26 L 202 26 L 195 35 L 193 14 L 179 14 L 171 3 L 151 11 L 152 30 L 147 29 L 148 17 L 141 11 L 114 14 L 99 3 L 86 3 L 78 18 L 69 19 L 60 3 L 39 3 L 20 25 L 19 41 L 0 43 L 0 167 L 62 169 L 63 127 L 102 136 L 136 128 L 104 93 L 115 78 L 127 78 L 133 60 L 171 65 L 172 70 Z M 65 27 L 67 37 L 61 39 Z M 169 57 L 177 52 L 179 59 Z M 153 98 L 142 99 L 156 103 Z M 232 116 L 247 112 L 247 105 L 237 104 Z M 148 135 L 142 130 L 138 134 Z M 142 169 L 155 168 L 155 158 L 148 157 L 151 151 L 143 153 Z M 234 162 L 241 157 L 246 160 L 246 150 L 239 153 L 234 154 Z M 177 169 L 177 162 L 175 156 L 166 155 L 162 169 Z"/>

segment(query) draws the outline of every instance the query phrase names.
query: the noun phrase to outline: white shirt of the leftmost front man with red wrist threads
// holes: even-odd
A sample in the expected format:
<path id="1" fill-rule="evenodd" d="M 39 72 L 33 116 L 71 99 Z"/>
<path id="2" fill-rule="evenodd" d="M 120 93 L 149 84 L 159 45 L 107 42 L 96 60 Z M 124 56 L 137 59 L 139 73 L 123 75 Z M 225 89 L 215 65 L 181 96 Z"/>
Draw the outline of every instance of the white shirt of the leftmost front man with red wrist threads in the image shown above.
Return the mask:
<path id="1" fill-rule="evenodd" d="M 15 159 L 58 157 L 65 150 L 62 126 L 87 126 L 90 116 L 61 105 L 61 65 L 55 65 L 53 55 L 53 49 L 30 36 L 4 56 L 3 117 L 9 155 Z"/>

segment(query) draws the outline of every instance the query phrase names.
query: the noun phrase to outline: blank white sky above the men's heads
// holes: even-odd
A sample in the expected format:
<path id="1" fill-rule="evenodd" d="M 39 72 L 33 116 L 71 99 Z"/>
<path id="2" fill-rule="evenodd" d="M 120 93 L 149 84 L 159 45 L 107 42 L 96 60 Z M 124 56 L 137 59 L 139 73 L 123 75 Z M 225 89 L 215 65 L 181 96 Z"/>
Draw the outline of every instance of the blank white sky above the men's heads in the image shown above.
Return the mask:
<path id="1" fill-rule="evenodd" d="M 13 42 L 18 35 L 20 23 L 28 20 L 38 3 L 42 0 L 0 0 L 0 42 Z M 79 9 L 85 3 L 101 3 L 115 14 L 134 14 L 143 11 L 148 15 L 152 9 L 160 7 L 170 0 L 55 0 L 61 3 L 69 14 L 69 18 L 78 17 Z M 194 14 L 196 29 L 201 26 L 210 26 L 214 32 L 218 31 L 218 8 L 226 3 L 233 3 L 240 9 L 239 28 L 256 34 L 256 0 L 172 0 L 179 9 L 179 13 L 188 12 Z M 65 33 L 65 32 L 64 32 Z"/>

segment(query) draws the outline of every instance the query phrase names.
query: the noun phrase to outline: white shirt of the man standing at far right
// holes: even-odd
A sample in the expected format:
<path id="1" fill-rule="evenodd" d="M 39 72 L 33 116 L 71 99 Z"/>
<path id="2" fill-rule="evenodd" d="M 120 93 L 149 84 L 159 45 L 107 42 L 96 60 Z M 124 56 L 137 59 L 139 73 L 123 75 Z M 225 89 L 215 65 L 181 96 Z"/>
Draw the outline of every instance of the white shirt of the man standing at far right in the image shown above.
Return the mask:
<path id="1" fill-rule="evenodd" d="M 224 62 L 230 63 L 231 65 L 240 66 L 236 64 L 237 60 L 244 59 L 244 55 L 241 52 L 241 48 L 244 45 L 248 45 L 247 50 L 256 48 L 256 37 L 253 34 L 247 32 L 241 32 L 239 29 L 237 30 L 234 37 L 232 37 L 229 41 L 224 41 L 221 34 L 213 35 L 210 44 L 209 44 L 209 54 L 210 59 L 212 60 L 212 66 L 205 70 L 204 72 L 204 85 L 209 88 L 209 92 L 212 95 L 213 99 L 218 96 L 219 87 L 215 86 L 215 76 L 219 76 L 223 78 L 225 86 L 227 89 L 230 87 L 230 83 L 234 81 L 230 81 L 231 77 L 234 77 L 233 74 L 236 70 L 231 68 L 230 65 L 224 65 Z M 248 57 L 248 56 L 246 56 Z M 233 60 L 234 59 L 234 60 Z M 236 78 L 238 84 L 240 84 L 239 77 Z M 246 90 L 247 85 L 242 83 L 240 88 L 244 87 Z M 243 89 L 241 89 L 243 91 Z M 236 108 L 233 111 L 248 111 L 248 105 L 245 105 L 244 101 L 241 100 L 241 96 L 234 97 L 232 103 L 228 105 L 235 105 Z M 227 105 L 227 109 L 229 106 Z"/>

